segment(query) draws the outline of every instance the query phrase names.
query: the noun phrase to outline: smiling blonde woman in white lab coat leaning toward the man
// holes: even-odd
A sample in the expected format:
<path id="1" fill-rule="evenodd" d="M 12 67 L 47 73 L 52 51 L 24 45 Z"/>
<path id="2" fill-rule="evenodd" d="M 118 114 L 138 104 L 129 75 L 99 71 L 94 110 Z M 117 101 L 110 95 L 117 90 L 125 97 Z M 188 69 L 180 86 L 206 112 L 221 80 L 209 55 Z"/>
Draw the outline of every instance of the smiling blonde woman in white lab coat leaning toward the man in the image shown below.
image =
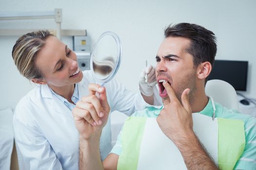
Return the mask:
<path id="1" fill-rule="evenodd" d="M 48 31 L 22 35 L 12 56 L 20 74 L 38 84 L 17 104 L 13 118 L 20 169 L 78 170 L 79 133 L 72 109 L 83 96 L 89 95 L 89 84 L 97 81 L 89 70 L 79 69 L 76 54 Z M 154 73 L 154 68 L 142 72 L 142 96 L 150 104 L 153 99 L 154 104 L 161 104 L 155 80 L 151 80 L 153 87 L 145 83 L 146 73 Z M 130 116 L 147 105 L 139 93 L 132 93 L 116 80 L 102 90 L 111 111 Z M 100 124 L 101 116 L 93 118 L 92 123 Z M 100 148 L 103 160 L 112 148 L 110 121 L 102 131 Z"/>

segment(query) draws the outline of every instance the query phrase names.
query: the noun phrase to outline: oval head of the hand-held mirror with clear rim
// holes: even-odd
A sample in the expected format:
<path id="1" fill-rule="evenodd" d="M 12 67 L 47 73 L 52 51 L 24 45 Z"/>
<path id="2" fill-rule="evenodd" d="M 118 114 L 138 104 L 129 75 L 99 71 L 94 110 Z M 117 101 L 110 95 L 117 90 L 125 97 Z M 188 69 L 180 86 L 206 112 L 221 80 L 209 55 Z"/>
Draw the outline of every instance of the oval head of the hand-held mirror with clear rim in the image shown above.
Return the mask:
<path id="1" fill-rule="evenodd" d="M 91 70 L 102 84 L 109 82 L 117 73 L 121 62 L 122 46 L 117 34 L 105 32 L 96 41 L 91 54 Z"/>

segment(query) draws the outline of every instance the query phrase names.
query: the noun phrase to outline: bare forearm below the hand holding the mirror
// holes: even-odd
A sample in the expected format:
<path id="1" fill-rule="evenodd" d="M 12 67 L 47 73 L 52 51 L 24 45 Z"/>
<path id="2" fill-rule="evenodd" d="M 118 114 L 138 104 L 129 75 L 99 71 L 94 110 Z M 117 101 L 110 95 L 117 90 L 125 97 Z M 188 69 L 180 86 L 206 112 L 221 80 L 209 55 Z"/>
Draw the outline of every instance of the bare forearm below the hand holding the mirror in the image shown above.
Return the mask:
<path id="1" fill-rule="evenodd" d="M 99 137 L 85 140 L 79 136 L 79 170 L 104 170 L 99 153 Z"/>

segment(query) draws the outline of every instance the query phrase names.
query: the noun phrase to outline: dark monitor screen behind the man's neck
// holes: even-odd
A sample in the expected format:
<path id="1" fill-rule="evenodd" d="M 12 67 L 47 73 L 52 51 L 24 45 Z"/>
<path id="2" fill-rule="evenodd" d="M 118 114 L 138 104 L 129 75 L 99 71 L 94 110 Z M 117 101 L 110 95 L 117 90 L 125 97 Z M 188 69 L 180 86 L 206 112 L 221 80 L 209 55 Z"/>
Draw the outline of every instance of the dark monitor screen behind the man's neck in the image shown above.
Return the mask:
<path id="1" fill-rule="evenodd" d="M 246 91 L 248 61 L 215 60 L 208 80 L 219 79 Z"/>

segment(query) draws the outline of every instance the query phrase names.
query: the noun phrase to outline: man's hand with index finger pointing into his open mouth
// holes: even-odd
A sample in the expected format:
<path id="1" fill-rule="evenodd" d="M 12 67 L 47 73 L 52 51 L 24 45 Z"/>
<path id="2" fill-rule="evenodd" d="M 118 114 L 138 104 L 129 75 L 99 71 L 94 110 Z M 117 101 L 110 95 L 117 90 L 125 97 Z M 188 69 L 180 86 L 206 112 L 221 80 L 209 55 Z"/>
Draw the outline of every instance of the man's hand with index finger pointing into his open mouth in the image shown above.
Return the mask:
<path id="1" fill-rule="evenodd" d="M 185 89 L 181 95 L 182 104 L 178 101 L 174 90 L 167 82 L 163 83 L 169 99 L 163 101 L 164 108 L 161 110 L 157 121 L 162 132 L 176 145 L 184 139 L 187 140 L 193 134 L 192 111 L 189 104 L 189 91 Z"/>

